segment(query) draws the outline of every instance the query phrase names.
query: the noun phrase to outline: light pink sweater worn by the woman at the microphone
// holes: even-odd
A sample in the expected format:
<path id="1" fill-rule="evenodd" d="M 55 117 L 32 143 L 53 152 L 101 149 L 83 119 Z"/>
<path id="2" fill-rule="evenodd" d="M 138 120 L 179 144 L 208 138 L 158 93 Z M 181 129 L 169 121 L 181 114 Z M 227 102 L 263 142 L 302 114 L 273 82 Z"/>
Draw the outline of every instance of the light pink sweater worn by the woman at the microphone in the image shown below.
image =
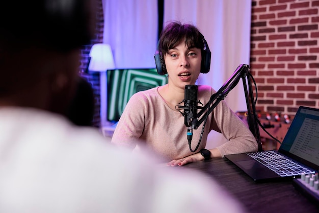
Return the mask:
<path id="1" fill-rule="evenodd" d="M 184 117 L 166 104 L 157 89 L 141 91 L 130 98 L 115 129 L 112 143 L 131 149 L 138 149 L 142 143 L 165 160 L 194 154 L 188 145 L 188 128 L 184 125 Z M 216 91 L 210 86 L 198 86 L 198 100 L 203 105 L 214 93 Z M 202 126 L 203 123 L 193 130 L 193 150 L 198 144 Z M 253 134 L 224 101 L 209 114 L 198 151 L 205 148 L 210 130 L 221 132 L 228 140 L 217 147 L 222 156 L 257 151 Z"/>

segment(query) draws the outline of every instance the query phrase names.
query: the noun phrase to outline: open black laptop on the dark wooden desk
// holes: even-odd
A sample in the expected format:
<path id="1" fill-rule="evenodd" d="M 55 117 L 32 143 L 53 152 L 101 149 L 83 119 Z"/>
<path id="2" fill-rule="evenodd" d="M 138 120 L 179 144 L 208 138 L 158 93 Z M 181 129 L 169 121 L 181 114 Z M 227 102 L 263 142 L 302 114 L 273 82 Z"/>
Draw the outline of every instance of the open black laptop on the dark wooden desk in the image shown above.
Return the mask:
<path id="1" fill-rule="evenodd" d="M 276 162 L 278 155 L 284 162 Z M 300 106 L 278 151 L 225 155 L 256 182 L 291 180 L 319 170 L 319 109 Z M 285 168 L 289 167 L 289 168 Z"/>

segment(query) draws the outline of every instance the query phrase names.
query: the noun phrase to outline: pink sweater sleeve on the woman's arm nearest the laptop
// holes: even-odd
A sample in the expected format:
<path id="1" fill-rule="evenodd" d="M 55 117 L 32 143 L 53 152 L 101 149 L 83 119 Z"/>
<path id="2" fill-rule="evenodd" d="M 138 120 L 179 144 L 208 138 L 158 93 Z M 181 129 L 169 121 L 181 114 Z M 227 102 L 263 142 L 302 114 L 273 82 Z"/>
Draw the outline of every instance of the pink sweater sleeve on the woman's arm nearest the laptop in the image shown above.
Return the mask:
<path id="1" fill-rule="evenodd" d="M 257 141 L 246 124 L 222 101 L 214 110 L 211 128 L 221 132 L 228 140 L 217 147 L 222 157 L 226 154 L 255 152 Z"/>

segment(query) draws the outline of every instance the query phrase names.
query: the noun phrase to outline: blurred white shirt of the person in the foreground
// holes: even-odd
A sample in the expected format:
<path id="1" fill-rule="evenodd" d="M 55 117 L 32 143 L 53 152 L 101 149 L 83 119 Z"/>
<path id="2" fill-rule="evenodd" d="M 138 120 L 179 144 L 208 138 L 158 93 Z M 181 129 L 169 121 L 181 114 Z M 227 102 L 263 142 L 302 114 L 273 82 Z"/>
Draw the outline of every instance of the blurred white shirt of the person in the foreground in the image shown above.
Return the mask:
<path id="1" fill-rule="evenodd" d="M 0 212 L 243 212 L 210 178 L 130 153 L 59 115 L 0 108 Z"/>

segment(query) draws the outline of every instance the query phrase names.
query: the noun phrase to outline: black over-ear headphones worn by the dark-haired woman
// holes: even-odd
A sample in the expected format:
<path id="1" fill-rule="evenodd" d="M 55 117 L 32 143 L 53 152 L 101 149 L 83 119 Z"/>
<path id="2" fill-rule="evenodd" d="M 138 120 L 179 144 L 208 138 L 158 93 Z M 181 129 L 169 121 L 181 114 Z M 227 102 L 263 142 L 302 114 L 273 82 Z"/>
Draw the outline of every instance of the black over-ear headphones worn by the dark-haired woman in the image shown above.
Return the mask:
<path id="1" fill-rule="evenodd" d="M 200 72 L 201 73 L 208 73 L 210 68 L 210 58 L 211 58 L 211 52 L 209 50 L 207 41 L 205 40 L 203 36 L 203 42 L 204 42 L 204 49 L 201 50 L 202 53 L 202 61 L 201 61 L 201 67 Z M 161 76 L 167 74 L 166 65 L 163 56 L 161 56 L 161 53 L 158 50 L 159 41 L 157 42 L 157 48 L 156 52 L 154 54 L 155 59 L 155 65 L 157 69 L 157 73 Z"/>

